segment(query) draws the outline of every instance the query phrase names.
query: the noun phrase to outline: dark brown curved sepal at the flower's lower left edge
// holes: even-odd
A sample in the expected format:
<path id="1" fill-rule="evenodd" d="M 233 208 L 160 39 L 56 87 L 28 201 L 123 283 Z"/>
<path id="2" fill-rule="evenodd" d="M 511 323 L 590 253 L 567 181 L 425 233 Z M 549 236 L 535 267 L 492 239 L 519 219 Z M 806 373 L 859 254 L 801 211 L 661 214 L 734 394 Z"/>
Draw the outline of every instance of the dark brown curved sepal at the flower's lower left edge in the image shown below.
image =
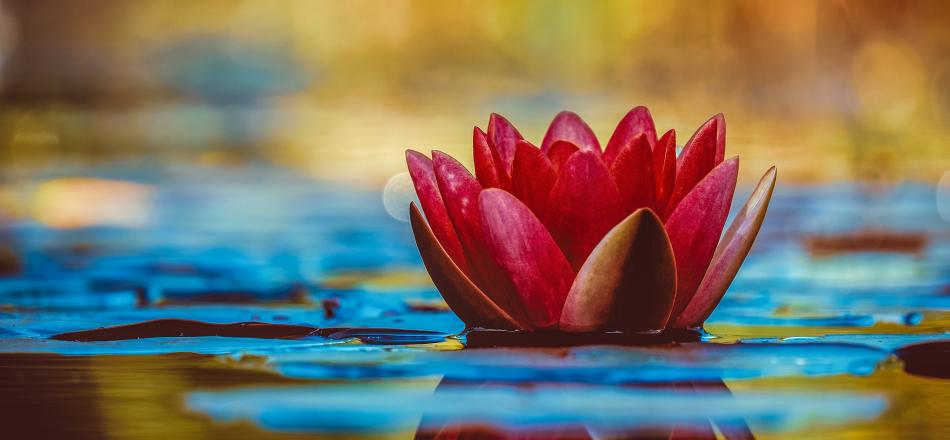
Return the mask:
<path id="1" fill-rule="evenodd" d="M 452 262 L 414 203 L 409 206 L 409 221 L 432 282 L 465 324 L 493 329 L 527 328 L 498 307 Z"/>

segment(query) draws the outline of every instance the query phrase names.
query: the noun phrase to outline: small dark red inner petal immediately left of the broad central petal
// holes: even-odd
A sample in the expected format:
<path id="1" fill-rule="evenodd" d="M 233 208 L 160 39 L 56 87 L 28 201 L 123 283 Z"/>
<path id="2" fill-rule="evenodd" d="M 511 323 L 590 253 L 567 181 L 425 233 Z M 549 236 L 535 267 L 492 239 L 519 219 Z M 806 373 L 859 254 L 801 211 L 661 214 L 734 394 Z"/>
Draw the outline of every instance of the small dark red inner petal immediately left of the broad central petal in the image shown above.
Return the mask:
<path id="1" fill-rule="evenodd" d="M 544 218 L 544 209 L 555 180 L 557 172 L 547 156 L 528 141 L 518 141 L 512 193 L 528 205 L 538 218 Z"/>

